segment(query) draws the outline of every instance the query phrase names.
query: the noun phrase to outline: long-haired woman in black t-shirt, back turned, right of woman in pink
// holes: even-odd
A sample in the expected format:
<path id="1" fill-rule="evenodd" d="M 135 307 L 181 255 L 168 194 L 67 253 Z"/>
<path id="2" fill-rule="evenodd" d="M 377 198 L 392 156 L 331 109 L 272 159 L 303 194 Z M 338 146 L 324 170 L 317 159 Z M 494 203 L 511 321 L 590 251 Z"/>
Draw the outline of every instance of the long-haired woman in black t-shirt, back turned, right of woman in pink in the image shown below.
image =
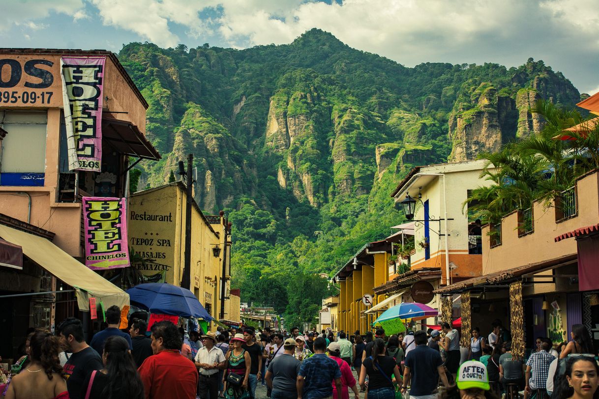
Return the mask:
<path id="1" fill-rule="evenodd" d="M 395 399 L 395 381 L 401 383 L 401 373 L 395 363 L 395 359 L 385 355 L 385 341 L 380 338 L 374 340 L 372 356 L 362 362 L 359 384 L 362 388 L 366 386 L 368 376 L 368 397 L 377 399 Z"/>

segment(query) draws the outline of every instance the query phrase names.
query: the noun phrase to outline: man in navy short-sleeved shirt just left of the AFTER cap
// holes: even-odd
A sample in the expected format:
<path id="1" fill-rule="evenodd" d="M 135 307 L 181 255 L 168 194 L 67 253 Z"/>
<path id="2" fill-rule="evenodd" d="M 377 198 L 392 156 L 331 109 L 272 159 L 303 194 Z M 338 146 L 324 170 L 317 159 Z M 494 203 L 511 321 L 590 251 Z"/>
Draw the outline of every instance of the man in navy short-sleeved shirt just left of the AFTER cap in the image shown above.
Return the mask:
<path id="1" fill-rule="evenodd" d="M 407 386 L 410 385 L 410 398 L 432 399 L 436 397 L 432 392 L 437 389 L 439 377 L 444 386 L 449 386 L 443 360 L 439 351 L 426 346 L 425 331 L 416 331 L 414 342 L 416 348 L 406 355 L 406 370 L 401 391 L 406 392 Z"/>

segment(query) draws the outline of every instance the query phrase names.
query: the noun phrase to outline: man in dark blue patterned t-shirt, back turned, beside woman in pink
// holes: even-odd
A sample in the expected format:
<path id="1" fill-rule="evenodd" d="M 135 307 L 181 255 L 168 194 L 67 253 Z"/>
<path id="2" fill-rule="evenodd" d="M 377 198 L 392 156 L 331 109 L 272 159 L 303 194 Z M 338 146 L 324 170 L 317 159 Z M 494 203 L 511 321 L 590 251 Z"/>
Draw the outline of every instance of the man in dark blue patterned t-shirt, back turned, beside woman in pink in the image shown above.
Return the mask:
<path id="1" fill-rule="evenodd" d="M 332 381 L 337 386 L 336 399 L 341 399 L 341 370 L 337 362 L 325 354 L 325 349 L 324 338 L 314 340 L 314 355 L 305 359 L 299 368 L 298 399 L 332 398 Z"/>

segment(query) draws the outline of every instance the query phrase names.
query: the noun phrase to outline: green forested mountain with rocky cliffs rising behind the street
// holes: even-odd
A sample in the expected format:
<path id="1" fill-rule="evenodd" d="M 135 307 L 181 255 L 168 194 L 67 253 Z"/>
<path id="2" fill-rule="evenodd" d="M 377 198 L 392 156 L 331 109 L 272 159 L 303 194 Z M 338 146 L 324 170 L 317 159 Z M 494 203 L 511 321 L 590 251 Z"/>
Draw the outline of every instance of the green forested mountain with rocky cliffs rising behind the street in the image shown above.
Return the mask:
<path id="1" fill-rule="evenodd" d="M 580 100 L 542 61 L 406 68 L 318 29 L 245 50 L 131 43 L 119 58 L 164 157 L 143 166 L 140 188 L 193 153 L 196 200 L 232 221 L 242 300 L 306 319 L 326 291 L 307 275 L 331 273 L 401 222 L 390 194 L 409 169 L 540 130 L 528 111 L 539 98 Z"/>

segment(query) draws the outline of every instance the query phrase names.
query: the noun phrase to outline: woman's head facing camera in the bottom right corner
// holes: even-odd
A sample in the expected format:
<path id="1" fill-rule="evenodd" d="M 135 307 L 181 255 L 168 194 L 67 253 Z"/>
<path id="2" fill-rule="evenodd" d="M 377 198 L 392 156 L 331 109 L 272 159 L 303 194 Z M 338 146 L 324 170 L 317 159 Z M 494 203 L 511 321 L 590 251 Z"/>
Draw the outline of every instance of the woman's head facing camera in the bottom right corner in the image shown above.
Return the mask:
<path id="1" fill-rule="evenodd" d="M 599 399 L 599 366 L 592 354 L 574 354 L 565 361 L 552 398 Z"/>

